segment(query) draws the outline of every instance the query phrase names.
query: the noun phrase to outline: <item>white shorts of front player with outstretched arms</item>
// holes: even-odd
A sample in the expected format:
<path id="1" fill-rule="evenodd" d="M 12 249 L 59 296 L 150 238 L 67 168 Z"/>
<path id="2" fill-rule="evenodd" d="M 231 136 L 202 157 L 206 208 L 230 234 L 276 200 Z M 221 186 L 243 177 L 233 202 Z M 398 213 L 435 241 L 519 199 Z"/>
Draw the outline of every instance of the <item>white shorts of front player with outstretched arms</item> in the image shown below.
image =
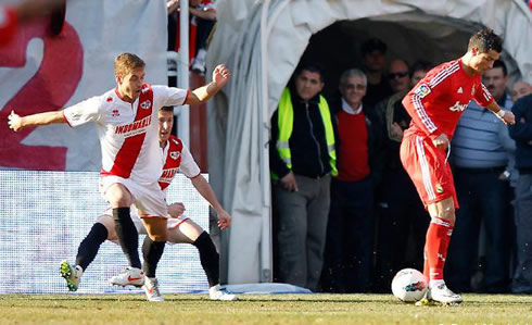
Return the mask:
<path id="1" fill-rule="evenodd" d="M 166 197 L 157 182 L 141 186 L 129 178 L 103 176 L 100 178 L 100 192 L 103 197 L 113 184 L 122 184 L 129 190 L 141 217 L 168 217 Z"/>

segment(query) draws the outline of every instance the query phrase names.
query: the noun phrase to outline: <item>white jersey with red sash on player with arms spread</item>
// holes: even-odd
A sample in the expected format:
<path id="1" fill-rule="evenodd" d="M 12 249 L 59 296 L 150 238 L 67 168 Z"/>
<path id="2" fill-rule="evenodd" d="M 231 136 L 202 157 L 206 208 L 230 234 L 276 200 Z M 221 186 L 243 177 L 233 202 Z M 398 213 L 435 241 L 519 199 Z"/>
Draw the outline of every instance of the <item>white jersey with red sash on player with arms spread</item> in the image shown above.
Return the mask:
<path id="1" fill-rule="evenodd" d="M 181 105 L 188 90 L 142 85 L 139 98 L 124 101 L 117 89 L 89 98 L 63 111 L 75 127 L 94 122 L 102 151 L 102 175 L 129 178 L 139 185 L 156 182 L 164 165 L 157 132 L 162 107 Z"/>

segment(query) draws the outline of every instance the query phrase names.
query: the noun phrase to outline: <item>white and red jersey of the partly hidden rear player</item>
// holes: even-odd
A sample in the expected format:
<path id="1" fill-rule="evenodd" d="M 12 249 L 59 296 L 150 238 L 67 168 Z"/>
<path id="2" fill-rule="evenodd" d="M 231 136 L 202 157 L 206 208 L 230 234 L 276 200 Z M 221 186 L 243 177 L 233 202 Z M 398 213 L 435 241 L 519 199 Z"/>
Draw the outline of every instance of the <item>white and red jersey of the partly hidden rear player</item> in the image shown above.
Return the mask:
<path id="1" fill-rule="evenodd" d="M 165 163 L 163 174 L 159 178 L 159 185 L 162 190 L 166 190 L 178 171 L 181 171 L 188 178 L 200 174 L 200 167 L 181 139 L 170 136 L 163 149 L 163 155 L 165 157 Z"/>

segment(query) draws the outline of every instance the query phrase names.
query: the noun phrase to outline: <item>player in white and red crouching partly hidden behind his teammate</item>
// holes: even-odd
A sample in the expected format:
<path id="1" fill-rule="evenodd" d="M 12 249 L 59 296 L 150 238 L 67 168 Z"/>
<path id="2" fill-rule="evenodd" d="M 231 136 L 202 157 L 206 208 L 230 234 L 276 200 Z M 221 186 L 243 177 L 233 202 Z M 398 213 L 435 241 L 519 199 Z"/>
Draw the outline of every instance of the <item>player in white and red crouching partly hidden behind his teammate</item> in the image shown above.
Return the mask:
<path id="1" fill-rule="evenodd" d="M 218 202 L 216 195 L 213 192 L 206 179 L 201 175 L 200 167 L 194 161 L 189 149 L 180 139 L 170 135 L 174 124 L 174 111 L 165 107 L 159 111 L 159 141 L 160 153 L 165 164 L 159 178 L 159 185 L 163 191 L 174 179 L 177 171 L 180 171 L 191 182 L 198 192 L 213 207 L 218 215 L 218 227 L 224 230 L 230 226 L 231 216 L 224 210 Z M 147 234 L 147 229 L 135 207 L 131 207 L 131 220 L 139 234 Z M 216 251 L 211 236 L 192 220 L 183 215 L 185 205 L 182 203 L 173 203 L 168 205 L 168 242 L 170 243 L 191 243 L 198 248 L 200 261 L 208 280 L 208 296 L 212 300 L 236 300 L 235 295 L 220 290 L 219 286 L 219 255 Z M 89 234 L 79 243 L 76 255 L 76 264 L 69 264 L 67 261 L 61 263 L 61 276 L 66 280 L 66 286 L 71 291 L 77 291 L 80 278 L 87 267 L 92 263 L 100 246 L 110 240 L 118 243 L 113 223 L 111 209 L 98 217 L 92 225 Z M 150 301 L 164 301 L 159 290 L 156 278 L 147 277 L 142 286 Z"/>

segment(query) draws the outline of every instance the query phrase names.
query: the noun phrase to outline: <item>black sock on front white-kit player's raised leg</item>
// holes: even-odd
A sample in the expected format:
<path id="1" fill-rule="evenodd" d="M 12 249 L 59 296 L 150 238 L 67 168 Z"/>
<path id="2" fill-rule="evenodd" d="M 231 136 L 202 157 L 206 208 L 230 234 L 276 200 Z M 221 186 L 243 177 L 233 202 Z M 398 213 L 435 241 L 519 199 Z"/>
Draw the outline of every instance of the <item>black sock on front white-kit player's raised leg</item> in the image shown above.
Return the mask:
<path id="1" fill-rule="evenodd" d="M 129 261 L 129 266 L 141 267 L 139 258 L 139 233 L 129 215 L 129 208 L 114 208 L 113 218 L 116 236 L 121 242 L 122 251 Z"/>

